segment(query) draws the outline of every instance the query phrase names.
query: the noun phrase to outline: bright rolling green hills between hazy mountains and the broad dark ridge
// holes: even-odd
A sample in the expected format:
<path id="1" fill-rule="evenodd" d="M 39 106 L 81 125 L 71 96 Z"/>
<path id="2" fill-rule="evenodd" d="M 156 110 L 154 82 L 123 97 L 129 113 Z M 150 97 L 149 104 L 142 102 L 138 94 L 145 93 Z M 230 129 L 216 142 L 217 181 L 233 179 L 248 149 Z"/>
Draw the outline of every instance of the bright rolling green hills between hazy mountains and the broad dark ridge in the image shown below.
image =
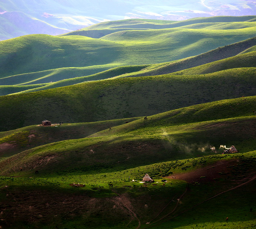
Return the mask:
<path id="1" fill-rule="evenodd" d="M 33 34 L 1 41 L 0 84 L 5 85 L 1 95 L 118 76 L 161 75 L 253 51 L 254 19 L 129 19 L 102 22 L 59 36 Z M 127 67 L 131 65 L 135 65 L 133 71 Z M 148 66 L 139 69 L 138 65 Z M 121 69 L 116 71 L 116 67 Z M 106 70 L 116 73 L 105 74 Z M 34 84 L 47 85 L 13 88 Z"/>

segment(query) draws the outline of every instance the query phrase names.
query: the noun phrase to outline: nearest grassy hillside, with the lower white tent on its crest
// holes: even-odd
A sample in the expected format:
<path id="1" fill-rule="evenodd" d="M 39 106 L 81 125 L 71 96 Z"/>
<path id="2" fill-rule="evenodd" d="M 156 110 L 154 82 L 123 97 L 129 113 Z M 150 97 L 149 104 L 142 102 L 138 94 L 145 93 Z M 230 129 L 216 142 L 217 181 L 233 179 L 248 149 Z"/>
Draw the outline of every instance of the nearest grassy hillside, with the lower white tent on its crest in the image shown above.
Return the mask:
<path id="1" fill-rule="evenodd" d="M 17 225 L 25 228 L 35 224 L 41 228 L 76 225 L 79 229 L 84 225 L 89 228 L 137 228 L 138 225 L 140 228 L 150 226 L 166 229 L 170 226 L 221 229 L 223 225 L 230 229 L 234 226 L 252 228 L 255 213 L 249 212 L 249 209 L 255 207 L 255 181 L 250 173 L 254 165 L 255 151 L 157 163 L 115 173 L 73 176 L 58 174 L 54 177 L 39 173 L 30 177 L 1 177 L 4 198 L 2 206 L 5 209 L 2 225 L 9 228 L 17 228 Z M 186 172 L 181 170 L 181 166 L 190 166 L 190 169 Z M 190 181 L 189 185 L 184 180 L 164 177 L 168 182 L 163 187 L 161 179 L 155 178 L 155 175 L 155 181 L 159 183 L 144 187 L 128 178 L 131 176 L 132 179 L 139 179 L 145 172 L 161 176 L 162 171 L 168 172 L 170 169 L 178 173 L 182 171 L 187 176 L 193 176 L 193 171 L 198 172 L 196 179 Z M 209 170 L 214 180 L 198 177 L 207 176 L 206 171 Z M 174 174 L 178 177 L 177 173 Z M 111 190 L 108 189 L 109 181 L 114 184 Z M 68 185 L 73 182 L 85 183 L 85 187 Z M 8 196 L 4 197 L 6 194 Z M 14 204 L 13 198 L 16 203 L 23 204 Z M 23 210 L 27 208 L 30 209 L 29 214 L 24 214 Z M 212 212 L 216 208 L 218 211 Z M 17 212 L 14 220 L 6 220 L 14 212 Z M 228 223 L 225 222 L 226 217 L 229 218 Z M 29 218 L 33 221 L 28 221 Z"/>

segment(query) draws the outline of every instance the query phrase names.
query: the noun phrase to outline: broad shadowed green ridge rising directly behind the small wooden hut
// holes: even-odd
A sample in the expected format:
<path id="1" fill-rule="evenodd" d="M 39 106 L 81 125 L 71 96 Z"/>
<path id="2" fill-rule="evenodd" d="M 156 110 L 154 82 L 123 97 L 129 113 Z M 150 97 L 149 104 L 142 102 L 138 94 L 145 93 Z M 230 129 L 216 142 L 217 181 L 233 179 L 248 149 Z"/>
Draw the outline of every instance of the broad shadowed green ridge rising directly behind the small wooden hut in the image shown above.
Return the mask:
<path id="1" fill-rule="evenodd" d="M 241 68 L 197 76 L 169 74 L 92 81 L 7 95 L 0 97 L 1 130 L 40 124 L 44 119 L 67 123 L 153 115 L 204 102 L 252 96 L 255 88 L 255 68 Z"/>

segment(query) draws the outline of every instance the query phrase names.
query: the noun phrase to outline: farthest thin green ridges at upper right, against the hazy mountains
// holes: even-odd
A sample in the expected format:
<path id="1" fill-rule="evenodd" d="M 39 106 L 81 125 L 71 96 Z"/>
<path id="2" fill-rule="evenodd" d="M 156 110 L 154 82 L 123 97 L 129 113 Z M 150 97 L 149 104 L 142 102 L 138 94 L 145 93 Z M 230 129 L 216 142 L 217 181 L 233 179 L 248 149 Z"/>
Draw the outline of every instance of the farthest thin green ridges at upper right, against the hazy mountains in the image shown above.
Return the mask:
<path id="1" fill-rule="evenodd" d="M 242 16 L 242 17 L 218 16 L 218 17 L 208 17 L 208 18 L 207 17 L 192 18 L 192 19 L 182 20 L 182 21 L 125 19 L 125 20 L 119 20 L 119 21 L 101 22 L 96 25 L 88 26 L 80 31 L 74 31 L 67 34 L 72 34 L 72 35 L 79 34 L 83 36 L 99 38 L 106 35 L 106 33 L 113 33 L 113 31 L 117 32 L 117 29 L 123 29 L 123 30 L 166 29 L 166 28 L 176 28 L 176 27 L 182 27 L 182 26 L 188 26 L 188 28 L 202 28 L 202 27 L 205 28 L 210 26 L 216 26 L 216 27 L 223 26 L 224 27 L 223 29 L 227 29 L 227 27 L 230 29 L 239 29 L 239 28 L 245 28 L 249 25 L 255 26 L 253 20 L 255 20 L 255 16 Z M 203 25 L 203 26 L 200 26 L 200 25 Z M 213 29 L 216 29 L 216 27 L 214 27 Z M 222 29 L 222 28 L 219 28 L 219 29 Z M 102 30 L 102 33 L 100 33 L 100 30 Z M 96 31 L 99 31 L 99 32 L 95 33 Z"/>

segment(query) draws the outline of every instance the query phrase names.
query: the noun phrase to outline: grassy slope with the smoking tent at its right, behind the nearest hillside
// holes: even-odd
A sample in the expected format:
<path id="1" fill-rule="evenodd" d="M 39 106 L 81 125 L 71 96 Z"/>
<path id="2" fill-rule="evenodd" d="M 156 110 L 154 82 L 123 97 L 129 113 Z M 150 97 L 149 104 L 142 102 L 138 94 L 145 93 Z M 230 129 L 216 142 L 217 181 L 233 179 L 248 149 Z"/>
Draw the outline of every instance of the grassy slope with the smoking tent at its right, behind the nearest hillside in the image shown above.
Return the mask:
<path id="1" fill-rule="evenodd" d="M 137 119 L 87 138 L 41 145 L 2 160 L 1 168 L 4 174 L 17 172 L 20 167 L 27 172 L 40 169 L 49 173 L 56 172 L 59 166 L 73 172 L 112 170 L 214 154 L 211 146 L 215 146 L 219 153 L 223 151 L 219 150 L 219 145 L 236 145 L 239 152 L 256 150 L 253 109 L 255 96 L 184 107 L 148 116 L 148 120 Z M 124 123 L 124 120 L 120 122 Z M 59 128 L 58 131 L 67 135 L 67 127 L 53 128 Z M 97 128 L 93 130 L 97 131 Z"/>

